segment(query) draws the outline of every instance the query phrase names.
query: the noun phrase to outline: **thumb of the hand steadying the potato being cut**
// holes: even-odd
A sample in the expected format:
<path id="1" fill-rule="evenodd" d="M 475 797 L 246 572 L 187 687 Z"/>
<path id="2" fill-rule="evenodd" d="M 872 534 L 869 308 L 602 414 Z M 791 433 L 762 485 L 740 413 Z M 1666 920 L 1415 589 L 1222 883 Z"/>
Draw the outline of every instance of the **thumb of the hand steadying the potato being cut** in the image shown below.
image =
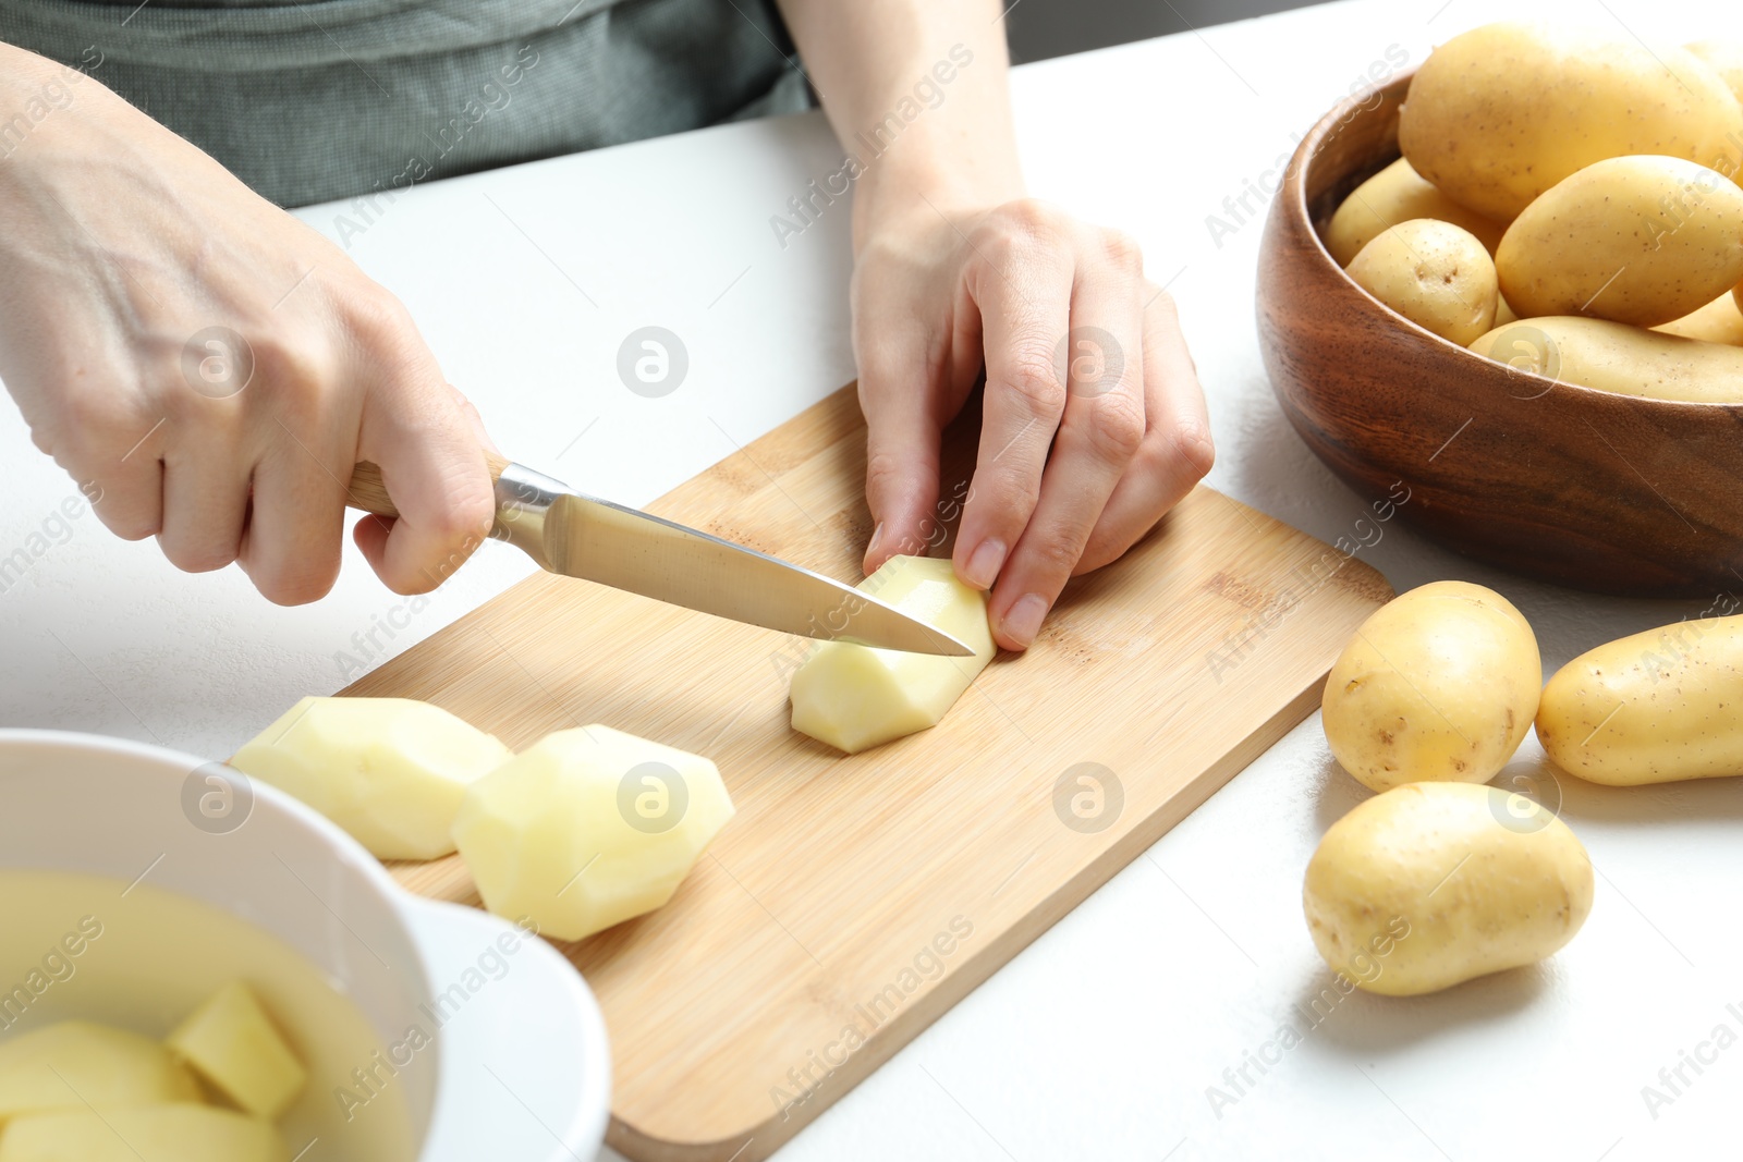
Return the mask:
<path id="1" fill-rule="evenodd" d="M 865 571 L 894 556 L 926 556 L 943 544 L 938 517 L 939 425 L 920 361 L 870 362 L 859 376 L 866 416 L 866 505 L 872 540 Z"/>

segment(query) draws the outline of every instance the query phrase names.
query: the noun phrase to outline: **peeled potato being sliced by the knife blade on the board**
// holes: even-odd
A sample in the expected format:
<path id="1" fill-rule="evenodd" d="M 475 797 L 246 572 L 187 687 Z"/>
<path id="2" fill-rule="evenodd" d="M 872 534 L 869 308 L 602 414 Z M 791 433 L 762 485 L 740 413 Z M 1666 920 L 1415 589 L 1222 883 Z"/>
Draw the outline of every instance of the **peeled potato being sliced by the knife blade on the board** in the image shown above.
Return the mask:
<path id="1" fill-rule="evenodd" d="M 793 671 L 793 730 L 849 754 L 938 725 L 997 652 L 987 594 L 962 584 L 950 561 L 891 557 L 859 589 L 941 629 L 974 657 L 819 643 Z"/>

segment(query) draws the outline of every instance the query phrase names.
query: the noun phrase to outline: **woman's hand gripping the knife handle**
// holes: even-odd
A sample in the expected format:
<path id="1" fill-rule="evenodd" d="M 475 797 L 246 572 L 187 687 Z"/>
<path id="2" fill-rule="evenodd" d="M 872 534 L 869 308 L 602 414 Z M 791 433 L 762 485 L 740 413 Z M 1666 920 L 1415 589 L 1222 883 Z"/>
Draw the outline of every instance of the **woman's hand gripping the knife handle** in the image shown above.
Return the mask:
<path id="1" fill-rule="evenodd" d="M 94 78 L 0 47 L 0 108 L 45 92 L 70 99 L 0 160 L 0 378 L 37 446 L 120 537 L 239 561 L 281 605 L 333 585 L 373 460 L 401 516 L 357 545 L 396 592 L 434 589 L 495 505 L 483 425 L 404 307 Z"/>

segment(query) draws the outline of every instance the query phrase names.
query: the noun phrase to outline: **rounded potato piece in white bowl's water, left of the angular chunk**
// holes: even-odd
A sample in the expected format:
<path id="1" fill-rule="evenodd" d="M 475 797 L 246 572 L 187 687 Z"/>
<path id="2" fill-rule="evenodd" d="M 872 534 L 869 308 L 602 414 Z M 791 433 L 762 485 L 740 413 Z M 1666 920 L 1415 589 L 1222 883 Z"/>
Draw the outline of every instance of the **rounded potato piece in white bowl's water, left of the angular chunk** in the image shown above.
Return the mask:
<path id="1" fill-rule="evenodd" d="M 0 1125 L 37 1111 L 200 1098 L 185 1064 L 127 1030 L 63 1021 L 0 1042 Z"/>

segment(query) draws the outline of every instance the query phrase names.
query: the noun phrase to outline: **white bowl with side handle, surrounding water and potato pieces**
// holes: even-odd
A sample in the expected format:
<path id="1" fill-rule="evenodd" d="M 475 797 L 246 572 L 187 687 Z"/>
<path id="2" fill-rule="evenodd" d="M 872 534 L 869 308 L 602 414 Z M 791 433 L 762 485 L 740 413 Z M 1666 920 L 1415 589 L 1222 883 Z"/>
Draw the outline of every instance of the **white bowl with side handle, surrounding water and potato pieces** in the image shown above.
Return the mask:
<path id="1" fill-rule="evenodd" d="M 413 1024 L 434 1028 L 424 1009 L 434 995 L 476 976 L 505 936 L 525 936 L 411 895 L 356 840 L 270 786 L 96 735 L 0 730 L 0 869 L 141 878 L 241 916 L 302 953 L 383 1045 Z M 444 1005 L 434 1052 L 394 1078 L 418 1162 L 573 1162 L 605 1136 L 612 1064 L 598 1003 L 549 944 L 509 942 L 502 984 Z M 188 972 L 200 972 L 197 955 Z"/>

